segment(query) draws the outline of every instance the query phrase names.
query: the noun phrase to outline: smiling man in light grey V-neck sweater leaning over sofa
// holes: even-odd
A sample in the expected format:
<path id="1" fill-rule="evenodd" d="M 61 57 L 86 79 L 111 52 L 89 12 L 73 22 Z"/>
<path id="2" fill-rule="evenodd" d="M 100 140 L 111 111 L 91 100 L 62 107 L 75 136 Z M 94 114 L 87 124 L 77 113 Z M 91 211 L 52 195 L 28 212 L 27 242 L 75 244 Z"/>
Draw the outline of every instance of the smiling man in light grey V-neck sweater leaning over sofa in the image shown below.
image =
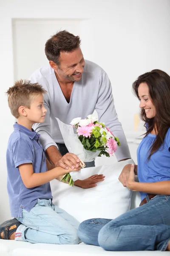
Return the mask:
<path id="1" fill-rule="evenodd" d="M 131 158 L 114 107 L 111 82 L 101 67 L 84 60 L 79 36 L 65 30 L 58 32 L 46 42 L 45 54 L 50 65 L 36 70 L 30 80 L 38 82 L 47 90 L 44 97 L 44 105 L 48 110 L 45 122 L 35 124 L 34 129 L 41 134 L 40 140 L 50 163 L 74 169 L 78 167 L 79 161 L 77 156 L 68 153 L 56 117 L 69 124 L 75 117 L 86 118 L 95 109 L 101 122 L 105 122 L 120 140 L 121 146 L 116 151 L 117 160 Z M 88 167 L 94 166 L 94 162 L 88 164 Z M 86 188 L 89 183 L 96 186 L 95 183 L 100 180 L 101 177 L 97 175 L 84 181 L 77 180 L 75 185 Z"/>

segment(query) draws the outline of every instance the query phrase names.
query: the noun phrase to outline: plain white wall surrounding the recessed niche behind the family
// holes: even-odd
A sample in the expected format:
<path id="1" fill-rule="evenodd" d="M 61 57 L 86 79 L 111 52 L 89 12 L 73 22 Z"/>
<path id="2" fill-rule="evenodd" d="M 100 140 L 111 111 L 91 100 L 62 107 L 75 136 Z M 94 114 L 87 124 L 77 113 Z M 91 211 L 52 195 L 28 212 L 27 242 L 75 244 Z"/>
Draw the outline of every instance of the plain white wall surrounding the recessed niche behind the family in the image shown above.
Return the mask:
<path id="1" fill-rule="evenodd" d="M 132 82 L 140 74 L 155 68 L 170 74 L 169 0 L 1 0 L 1 220 L 10 217 L 5 158 L 14 118 L 4 92 L 14 81 L 12 18 L 85 19 L 81 31 L 83 54 L 108 73 L 116 110 L 126 134 L 133 132 L 133 115 L 139 104 L 131 92 Z M 27 67 L 26 63 L 23 56 L 24 67 Z"/>

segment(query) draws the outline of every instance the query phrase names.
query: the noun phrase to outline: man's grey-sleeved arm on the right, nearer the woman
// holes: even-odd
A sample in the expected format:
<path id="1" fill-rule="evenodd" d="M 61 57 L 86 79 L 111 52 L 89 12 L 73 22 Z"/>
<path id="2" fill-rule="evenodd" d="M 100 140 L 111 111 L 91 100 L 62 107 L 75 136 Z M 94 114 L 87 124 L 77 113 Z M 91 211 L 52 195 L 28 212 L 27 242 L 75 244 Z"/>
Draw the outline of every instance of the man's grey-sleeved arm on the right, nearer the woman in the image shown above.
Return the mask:
<path id="1" fill-rule="evenodd" d="M 131 158 L 127 140 L 114 106 L 111 82 L 105 72 L 102 73 L 100 78 L 100 90 L 95 109 L 99 120 L 105 122 L 105 125 L 112 131 L 114 136 L 119 138 L 121 145 L 117 147 L 115 153 L 117 160 Z"/>

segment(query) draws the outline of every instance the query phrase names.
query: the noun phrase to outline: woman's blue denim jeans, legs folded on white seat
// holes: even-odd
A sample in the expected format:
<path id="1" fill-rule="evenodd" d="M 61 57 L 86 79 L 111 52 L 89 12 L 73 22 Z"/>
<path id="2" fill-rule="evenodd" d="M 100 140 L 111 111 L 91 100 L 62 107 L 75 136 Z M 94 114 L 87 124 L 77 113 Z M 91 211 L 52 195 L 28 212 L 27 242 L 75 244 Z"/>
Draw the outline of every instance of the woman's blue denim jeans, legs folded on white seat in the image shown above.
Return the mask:
<path id="1" fill-rule="evenodd" d="M 170 241 L 170 196 L 156 195 L 147 204 L 111 219 L 90 219 L 79 225 L 85 244 L 111 251 L 161 250 Z"/>

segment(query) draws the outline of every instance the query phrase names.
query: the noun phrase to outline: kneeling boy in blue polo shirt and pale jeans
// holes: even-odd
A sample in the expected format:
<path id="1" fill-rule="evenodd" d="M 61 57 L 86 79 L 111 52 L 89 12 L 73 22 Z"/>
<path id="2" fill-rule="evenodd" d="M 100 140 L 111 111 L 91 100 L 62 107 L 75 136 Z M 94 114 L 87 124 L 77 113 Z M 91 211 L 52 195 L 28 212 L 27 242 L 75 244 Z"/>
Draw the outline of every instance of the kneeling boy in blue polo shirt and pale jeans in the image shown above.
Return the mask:
<path id="1" fill-rule="evenodd" d="M 17 81 L 7 91 L 8 105 L 17 118 L 8 141 L 7 188 L 11 216 L 0 225 L 0 238 L 31 243 L 78 244 L 79 222 L 52 203 L 50 180 L 73 171 L 51 164 L 39 142 L 40 134 L 32 129 L 42 123 L 47 110 L 43 105 L 46 91 L 38 83 Z M 77 160 L 78 162 L 79 160 Z M 78 171 L 75 168 L 74 171 Z"/>

